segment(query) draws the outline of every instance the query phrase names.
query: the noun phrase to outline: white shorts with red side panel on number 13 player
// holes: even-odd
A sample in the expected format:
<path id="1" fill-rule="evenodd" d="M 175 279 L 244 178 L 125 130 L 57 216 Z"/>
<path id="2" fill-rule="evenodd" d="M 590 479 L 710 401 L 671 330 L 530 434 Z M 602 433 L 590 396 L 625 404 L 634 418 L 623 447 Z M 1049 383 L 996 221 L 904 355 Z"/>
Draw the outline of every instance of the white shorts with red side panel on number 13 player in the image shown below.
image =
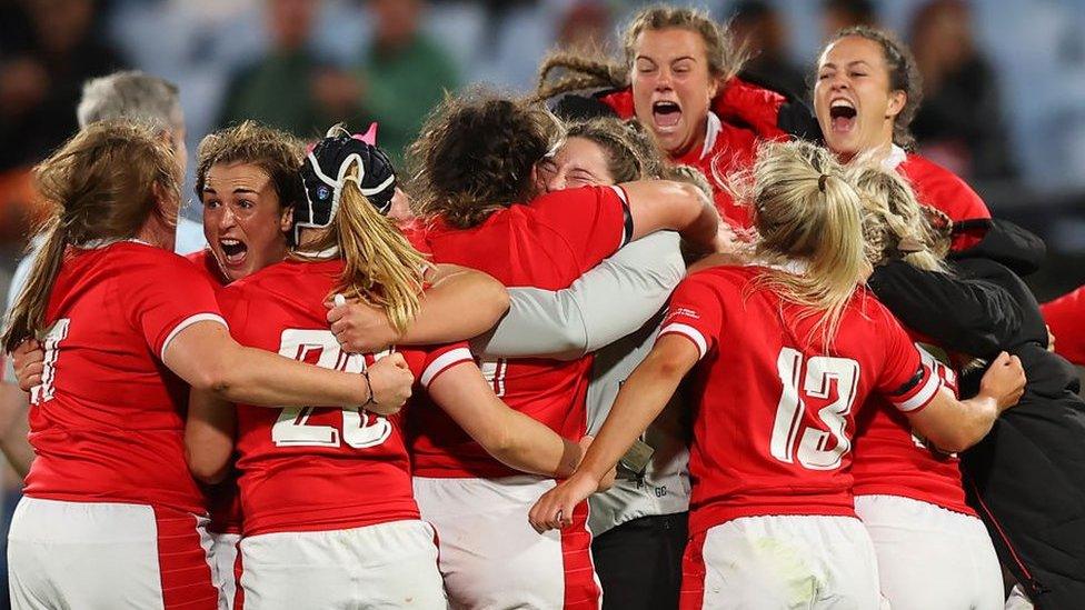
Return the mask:
<path id="1" fill-rule="evenodd" d="M 683 610 L 877 610 L 874 546 L 850 517 L 745 517 L 690 538 Z"/>

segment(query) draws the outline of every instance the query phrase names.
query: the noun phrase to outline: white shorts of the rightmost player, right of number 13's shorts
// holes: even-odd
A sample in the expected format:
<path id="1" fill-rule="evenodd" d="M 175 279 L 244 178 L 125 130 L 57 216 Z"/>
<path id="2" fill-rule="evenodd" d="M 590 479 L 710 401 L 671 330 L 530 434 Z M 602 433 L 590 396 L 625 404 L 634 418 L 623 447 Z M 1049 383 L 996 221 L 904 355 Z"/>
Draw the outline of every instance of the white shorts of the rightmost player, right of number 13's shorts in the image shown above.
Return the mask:
<path id="1" fill-rule="evenodd" d="M 900 496 L 856 496 L 893 610 L 996 610 L 1002 568 L 975 517 Z"/>

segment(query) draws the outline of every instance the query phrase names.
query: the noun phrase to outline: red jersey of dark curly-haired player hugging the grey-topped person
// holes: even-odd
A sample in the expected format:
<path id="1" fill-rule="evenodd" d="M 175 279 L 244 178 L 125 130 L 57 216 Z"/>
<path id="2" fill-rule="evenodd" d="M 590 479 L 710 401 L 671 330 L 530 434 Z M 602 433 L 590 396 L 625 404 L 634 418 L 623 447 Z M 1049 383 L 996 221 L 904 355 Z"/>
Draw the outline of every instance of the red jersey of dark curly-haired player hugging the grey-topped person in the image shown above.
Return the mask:
<path id="1" fill-rule="evenodd" d="M 438 220 L 426 240 L 437 262 L 485 271 L 505 286 L 558 290 L 628 240 L 633 228 L 623 197 L 611 187 L 554 192 L 497 211 L 472 229 L 454 229 Z M 569 439 L 587 428 L 584 400 L 590 366 L 590 357 L 479 362 L 506 404 Z M 408 420 L 416 476 L 518 473 L 487 454 L 444 411 L 416 410 Z"/>

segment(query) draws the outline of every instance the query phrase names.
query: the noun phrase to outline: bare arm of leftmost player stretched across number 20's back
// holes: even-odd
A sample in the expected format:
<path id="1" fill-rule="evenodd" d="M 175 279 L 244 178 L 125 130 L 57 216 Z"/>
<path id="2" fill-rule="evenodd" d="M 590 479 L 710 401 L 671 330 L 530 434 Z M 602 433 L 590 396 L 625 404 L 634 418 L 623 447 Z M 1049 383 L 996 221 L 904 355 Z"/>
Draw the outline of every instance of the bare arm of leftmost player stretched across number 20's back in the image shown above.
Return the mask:
<path id="1" fill-rule="evenodd" d="M 360 374 L 305 364 L 281 356 L 239 346 L 220 323 L 200 321 L 181 330 L 162 356 L 167 367 L 193 390 L 221 400 L 265 407 L 365 404 L 369 397 Z M 378 404 L 370 411 L 388 414 L 410 397 L 414 376 L 402 356 L 394 353 L 369 368 Z"/>

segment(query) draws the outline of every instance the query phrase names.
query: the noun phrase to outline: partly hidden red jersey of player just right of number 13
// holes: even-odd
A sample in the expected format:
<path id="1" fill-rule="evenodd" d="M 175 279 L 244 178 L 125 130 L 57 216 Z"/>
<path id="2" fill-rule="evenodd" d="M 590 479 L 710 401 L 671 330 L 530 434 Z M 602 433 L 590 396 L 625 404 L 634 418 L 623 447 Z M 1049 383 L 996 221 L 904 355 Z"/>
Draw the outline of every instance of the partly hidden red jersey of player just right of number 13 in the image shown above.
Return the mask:
<path id="1" fill-rule="evenodd" d="M 920 347 L 924 361 L 957 393 L 957 374 Z M 856 496 L 903 496 L 975 516 L 965 502 L 956 453 L 929 447 L 908 418 L 882 397 L 856 416 L 852 476 Z"/>

